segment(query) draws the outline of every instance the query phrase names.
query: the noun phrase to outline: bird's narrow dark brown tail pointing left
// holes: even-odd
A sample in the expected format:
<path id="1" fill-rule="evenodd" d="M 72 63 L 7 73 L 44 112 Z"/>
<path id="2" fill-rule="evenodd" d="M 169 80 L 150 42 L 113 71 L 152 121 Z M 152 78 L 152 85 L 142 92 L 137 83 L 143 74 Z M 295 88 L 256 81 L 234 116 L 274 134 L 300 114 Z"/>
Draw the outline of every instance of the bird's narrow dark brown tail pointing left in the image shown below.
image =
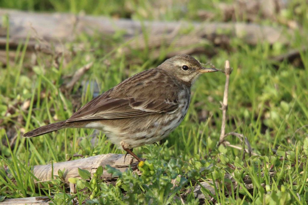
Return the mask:
<path id="1" fill-rule="evenodd" d="M 69 128 L 69 127 L 70 127 L 70 123 L 67 123 L 66 120 L 64 120 L 61 122 L 47 124 L 42 127 L 36 128 L 30 132 L 25 133 L 23 136 L 24 137 L 36 137 L 36 136 L 46 134 L 48 132 L 53 132 L 59 129 Z"/>

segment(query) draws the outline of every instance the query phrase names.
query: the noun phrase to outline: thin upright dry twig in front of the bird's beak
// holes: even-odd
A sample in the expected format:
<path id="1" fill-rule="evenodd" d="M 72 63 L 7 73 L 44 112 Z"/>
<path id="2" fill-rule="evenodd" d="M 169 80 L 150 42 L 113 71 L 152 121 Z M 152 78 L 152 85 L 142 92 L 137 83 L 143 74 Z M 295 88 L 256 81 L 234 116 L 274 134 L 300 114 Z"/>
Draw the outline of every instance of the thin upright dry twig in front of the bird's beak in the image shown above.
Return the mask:
<path id="1" fill-rule="evenodd" d="M 225 74 L 226 74 L 226 83 L 224 90 L 224 99 L 221 104 L 222 109 L 222 123 L 221 123 L 221 132 L 219 137 L 219 144 L 221 144 L 225 139 L 225 127 L 226 127 L 226 112 L 228 108 L 228 90 L 229 90 L 229 77 L 232 70 L 230 68 L 230 62 L 228 60 L 225 61 Z"/>

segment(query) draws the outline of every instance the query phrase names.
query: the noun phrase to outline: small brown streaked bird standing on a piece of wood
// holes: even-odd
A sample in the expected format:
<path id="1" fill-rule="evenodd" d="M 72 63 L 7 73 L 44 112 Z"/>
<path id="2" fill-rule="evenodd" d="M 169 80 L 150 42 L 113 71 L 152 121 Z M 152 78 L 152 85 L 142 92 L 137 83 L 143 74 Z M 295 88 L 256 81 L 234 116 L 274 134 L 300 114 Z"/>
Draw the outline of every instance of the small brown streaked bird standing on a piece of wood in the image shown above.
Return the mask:
<path id="1" fill-rule="evenodd" d="M 95 97 L 69 119 L 36 128 L 24 136 L 63 128 L 95 128 L 141 161 L 132 149 L 168 136 L 187 113 L 190 88 L 197 77 L 216 71 L 202 67 L 189 55 L 174 56 Z"/>

